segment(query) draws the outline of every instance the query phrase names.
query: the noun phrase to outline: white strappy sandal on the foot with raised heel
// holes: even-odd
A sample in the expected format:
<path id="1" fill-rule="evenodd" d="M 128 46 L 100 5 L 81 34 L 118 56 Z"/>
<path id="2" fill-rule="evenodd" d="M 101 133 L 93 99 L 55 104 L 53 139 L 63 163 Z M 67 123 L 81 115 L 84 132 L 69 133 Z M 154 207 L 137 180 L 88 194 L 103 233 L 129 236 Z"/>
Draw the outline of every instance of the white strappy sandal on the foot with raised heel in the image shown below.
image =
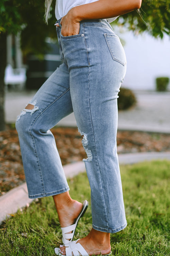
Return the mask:
<path id="1" fill-rule="evenodd" d="M 79 216 L 77 217 L 75 223 L 72 224 L 71 226 L 61 228 L 62 235 L 63 235 L 62 242 L 63 242 L 64 245 L 70 243 L 73 240 L 73 237 L 74 237 L 74 234 L 75 234 L 75 229 L 77 228 L 79 219 L 81 217 L 83 217 L 85 211 L 87 210 L 87 207 L 88 207 L 88 202 L 87 202 L 87 200 L 85 200 L 84 203 L 83 203 L 82 211 L 79 214 Z M 71 232 L 71 231 L 72 231 L 72 233 L 68 233 L 68 232 Z"/>

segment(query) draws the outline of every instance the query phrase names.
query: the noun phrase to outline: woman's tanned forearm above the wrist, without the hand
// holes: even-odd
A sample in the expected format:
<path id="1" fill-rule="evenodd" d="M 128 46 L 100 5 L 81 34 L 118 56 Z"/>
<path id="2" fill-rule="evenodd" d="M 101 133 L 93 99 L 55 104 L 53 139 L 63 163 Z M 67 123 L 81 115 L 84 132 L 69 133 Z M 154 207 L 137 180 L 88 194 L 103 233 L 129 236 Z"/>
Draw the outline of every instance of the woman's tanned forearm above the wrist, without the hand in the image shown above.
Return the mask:
<path id="1" fill-rule="evenodd" d="M 77 21 L 116 17 L 139 9 L 141 0 L 99 0 L 75 6 L 72 14 Z"/>

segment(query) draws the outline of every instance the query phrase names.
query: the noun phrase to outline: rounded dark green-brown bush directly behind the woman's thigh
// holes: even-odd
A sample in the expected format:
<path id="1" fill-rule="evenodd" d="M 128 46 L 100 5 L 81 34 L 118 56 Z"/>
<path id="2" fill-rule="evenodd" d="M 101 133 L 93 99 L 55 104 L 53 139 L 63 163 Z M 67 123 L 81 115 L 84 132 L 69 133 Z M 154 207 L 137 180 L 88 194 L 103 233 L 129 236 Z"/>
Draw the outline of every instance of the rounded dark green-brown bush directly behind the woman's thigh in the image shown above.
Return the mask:
<path id="1" fill-rule="evenodd" d="M 118 93 L 118 109 L 128 109 L 134 104 L 136 104 L 136 97 L 130 89 L 120 88 Z"/>

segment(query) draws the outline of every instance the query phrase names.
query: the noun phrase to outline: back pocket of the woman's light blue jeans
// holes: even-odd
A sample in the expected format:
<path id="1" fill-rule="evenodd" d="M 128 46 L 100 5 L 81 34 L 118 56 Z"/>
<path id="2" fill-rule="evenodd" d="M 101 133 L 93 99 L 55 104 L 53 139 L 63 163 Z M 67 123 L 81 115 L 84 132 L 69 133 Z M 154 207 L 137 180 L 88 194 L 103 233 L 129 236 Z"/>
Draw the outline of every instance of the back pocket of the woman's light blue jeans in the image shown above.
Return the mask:
<path id="1" fill-rule="evenodd" d="M 121 63 L 123 66 L 126 65 L 126 55 L 120 39 L 115 34 L 104 34 L 107 46 L 112 55 L 112 58 L 117 62 Z"/>

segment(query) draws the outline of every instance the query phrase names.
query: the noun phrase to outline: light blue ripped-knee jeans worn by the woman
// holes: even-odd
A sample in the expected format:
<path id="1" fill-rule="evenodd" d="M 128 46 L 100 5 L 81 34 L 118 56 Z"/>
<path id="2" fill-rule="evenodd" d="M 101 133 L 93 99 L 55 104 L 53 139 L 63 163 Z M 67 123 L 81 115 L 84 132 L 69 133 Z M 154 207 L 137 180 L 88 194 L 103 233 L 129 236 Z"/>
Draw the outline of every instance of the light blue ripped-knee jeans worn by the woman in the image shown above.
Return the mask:
<path id="1" fill-rule="evenodd" d="M 60 24 L 60 21 L 59 21 Z M 92 225 L 115 233 L 126 227 L 118 164 L 117 98 L 126 71 L 118 36 L 106 20 L 80 23 L 80 33 L 63 37 L 57 28 L 63 64 L 41 86 L 16 121 L 30 198 L 69 190 L 49 129 L 74 111 L 87 153 Z"/>

